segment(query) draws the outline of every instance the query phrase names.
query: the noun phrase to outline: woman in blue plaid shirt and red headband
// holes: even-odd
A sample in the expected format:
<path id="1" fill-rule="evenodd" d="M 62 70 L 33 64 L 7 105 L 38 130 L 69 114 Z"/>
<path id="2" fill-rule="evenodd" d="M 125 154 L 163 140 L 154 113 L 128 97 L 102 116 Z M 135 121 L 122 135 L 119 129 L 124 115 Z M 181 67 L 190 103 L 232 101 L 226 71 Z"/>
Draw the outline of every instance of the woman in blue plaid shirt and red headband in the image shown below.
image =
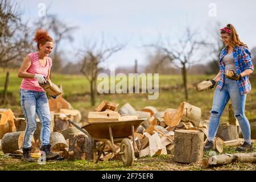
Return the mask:
<path id="1" fill-rule="evenodd" d="M 244 139 L 242 146 L 237 147 L 237 151 L 253 151 L 250 123 L 245 116 L 246 95 L 251 90 L 249 75 L 254 69 L 250 51 L 240 41 L 232 24 L 222 28 L 220 34 L 221 40 L 226 47 L 222 49 L 220 54 L 220 72 L 211 80 L 212 87 L 216 82 L 218 82 L 218 85 L 214 92 L 209 119 L 208 141 L 204 146 L 204 150 L 213 149 L 213 141 L 220 123 L 221 114 L 230 99 Z M 227 71 L 233 74 L 226 74 Z"/>

